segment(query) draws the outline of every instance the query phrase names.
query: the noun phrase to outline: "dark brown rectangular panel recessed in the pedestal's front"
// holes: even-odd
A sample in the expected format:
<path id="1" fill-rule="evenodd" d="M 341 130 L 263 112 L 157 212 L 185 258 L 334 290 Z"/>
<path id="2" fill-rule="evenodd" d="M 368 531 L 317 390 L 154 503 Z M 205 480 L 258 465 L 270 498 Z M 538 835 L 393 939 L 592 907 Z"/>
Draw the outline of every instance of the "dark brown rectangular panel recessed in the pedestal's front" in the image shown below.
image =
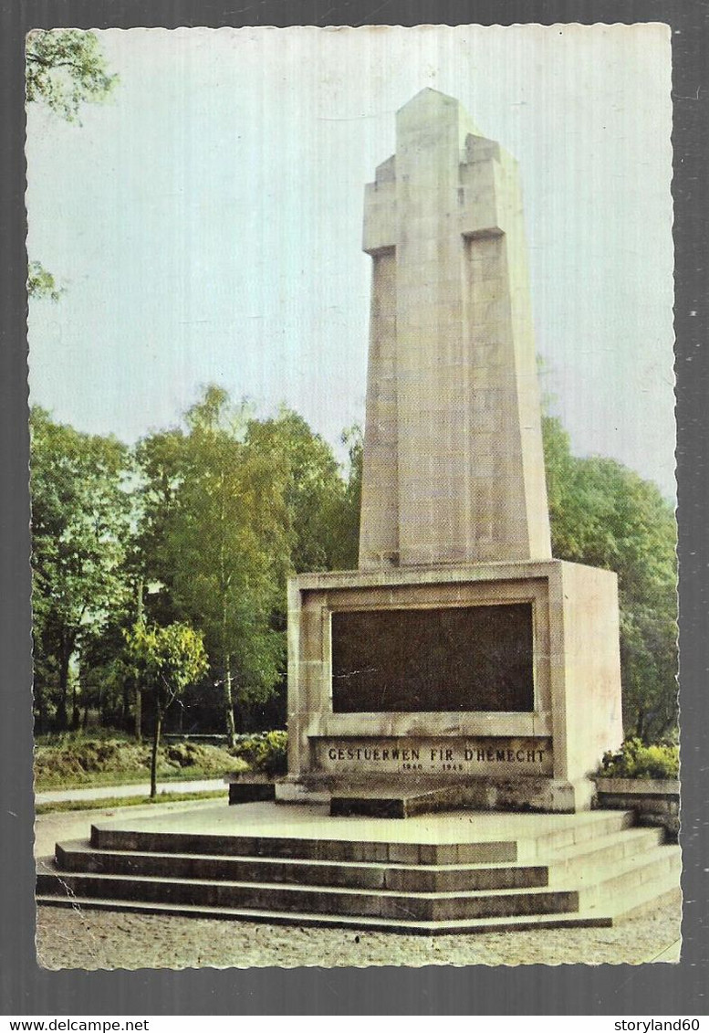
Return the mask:
<path id="1" fill-rule="evenodd" d="M 332 614 L 334 713 L 531 711 L 531 603 Z"/>

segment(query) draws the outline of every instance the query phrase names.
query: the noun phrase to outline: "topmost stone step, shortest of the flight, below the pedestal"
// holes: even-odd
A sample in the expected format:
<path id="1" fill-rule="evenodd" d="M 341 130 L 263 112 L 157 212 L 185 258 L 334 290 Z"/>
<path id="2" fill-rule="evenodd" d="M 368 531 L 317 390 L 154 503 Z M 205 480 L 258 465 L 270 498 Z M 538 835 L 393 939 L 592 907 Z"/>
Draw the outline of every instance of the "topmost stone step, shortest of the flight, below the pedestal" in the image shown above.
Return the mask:
<path id="1" fill-rule="evenodd" d="M 389 843 L 378 840 L 211 835 L 92 825 L 91 845 L 100 850 L 134 850 L 140 853 L 393 862 L 399 865 L 477 865 L 517 860 L 517 844 L 514 840 L 479 843 Z"/>

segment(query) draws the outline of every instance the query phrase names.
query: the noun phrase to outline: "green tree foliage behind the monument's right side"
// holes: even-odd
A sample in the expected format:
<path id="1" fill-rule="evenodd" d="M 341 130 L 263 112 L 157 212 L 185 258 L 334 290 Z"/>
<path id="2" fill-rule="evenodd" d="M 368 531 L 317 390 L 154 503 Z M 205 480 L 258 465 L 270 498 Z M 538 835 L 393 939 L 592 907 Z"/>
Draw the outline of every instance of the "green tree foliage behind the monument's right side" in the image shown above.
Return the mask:
<path id="1" fill-rule="evenodd" d="M 543 424 L 552 553 L 618 574 L 623 724 L 645 742 L 677 722 L 676 524 L 657 488 L 614 460 L 571 453 Z"/>

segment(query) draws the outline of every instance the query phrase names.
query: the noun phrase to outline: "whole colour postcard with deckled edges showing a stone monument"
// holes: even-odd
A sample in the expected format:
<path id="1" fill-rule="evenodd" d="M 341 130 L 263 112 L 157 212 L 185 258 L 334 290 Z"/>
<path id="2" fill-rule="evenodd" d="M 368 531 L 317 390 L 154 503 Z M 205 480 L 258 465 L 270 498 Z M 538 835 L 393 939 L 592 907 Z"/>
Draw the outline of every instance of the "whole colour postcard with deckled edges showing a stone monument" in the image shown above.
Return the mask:
<path id="1" fill-rule="evenodd" d="M 677 962 L 669 27 L 26 56 L 39 965 Z"/>

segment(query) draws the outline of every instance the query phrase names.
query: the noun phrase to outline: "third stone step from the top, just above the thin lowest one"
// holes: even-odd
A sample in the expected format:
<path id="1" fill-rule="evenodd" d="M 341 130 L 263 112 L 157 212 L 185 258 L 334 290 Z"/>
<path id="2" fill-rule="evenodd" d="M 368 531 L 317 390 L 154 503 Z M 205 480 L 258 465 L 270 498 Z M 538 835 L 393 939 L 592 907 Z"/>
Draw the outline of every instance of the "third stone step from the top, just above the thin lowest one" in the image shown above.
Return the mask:
<path id="1" fill-rule="evenodd" d="M 525 914 L 563 913 L 578 909 L 574 890 L 528 889 L 459 890 L 456 893 L 397 893 L 332 886 L 294 886 L 283 883 L 213 881 L 136 875 L 104 875 L 47 871 L 37 874 L 37 893 L 68 897 L 195 904 L 212 908 L 257 908 L 325 914 L 404 917 L 424 921 Z"/>

